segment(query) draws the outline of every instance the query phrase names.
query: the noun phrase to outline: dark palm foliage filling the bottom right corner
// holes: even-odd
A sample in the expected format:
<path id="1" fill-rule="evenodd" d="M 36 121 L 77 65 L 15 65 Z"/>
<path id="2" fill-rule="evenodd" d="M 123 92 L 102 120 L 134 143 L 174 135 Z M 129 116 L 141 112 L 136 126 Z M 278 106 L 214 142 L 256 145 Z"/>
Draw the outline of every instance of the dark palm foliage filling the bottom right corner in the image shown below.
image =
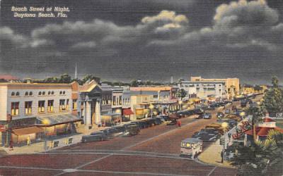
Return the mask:
<path id="1" fill-rule="evenodd" d="M 270 130 L 264 142 L 252 146 L 238 146 L 233 165 L 238 175 L 282 175 L 283 133 Z"/>

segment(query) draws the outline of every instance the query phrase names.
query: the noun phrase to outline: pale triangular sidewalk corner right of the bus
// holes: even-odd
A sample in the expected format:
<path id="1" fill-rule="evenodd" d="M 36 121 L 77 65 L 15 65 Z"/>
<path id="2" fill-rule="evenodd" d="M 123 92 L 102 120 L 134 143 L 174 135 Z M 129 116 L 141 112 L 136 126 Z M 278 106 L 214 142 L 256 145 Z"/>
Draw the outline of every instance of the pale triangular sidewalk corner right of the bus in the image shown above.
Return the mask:
<path id="1" fill-rule="evenodd" d="M 221 151 L 222 146 L 219 144 L 219 140 L 211 144 L 207 149 L 202 151 L 198 159 L 203 163 L 208 163 L 212 165 L 217 165 L 226 168 L 235 168 L 228 161 L 221 163 Z"/>

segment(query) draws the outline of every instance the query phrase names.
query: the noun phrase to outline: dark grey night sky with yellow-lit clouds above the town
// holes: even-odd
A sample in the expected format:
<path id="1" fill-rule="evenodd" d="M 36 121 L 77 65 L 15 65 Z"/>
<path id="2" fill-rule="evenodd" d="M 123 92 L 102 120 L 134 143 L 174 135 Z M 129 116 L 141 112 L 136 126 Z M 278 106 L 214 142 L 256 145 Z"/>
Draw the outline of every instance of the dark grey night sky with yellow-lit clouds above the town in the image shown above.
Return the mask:
<path id="1" fill-rule="evenodd" d="M 14 18 L 11 6 L 65 6 L 67 18 Z M 281 0 L 2 0 L 0 74 L 91 73 L 283 80 Z"/>

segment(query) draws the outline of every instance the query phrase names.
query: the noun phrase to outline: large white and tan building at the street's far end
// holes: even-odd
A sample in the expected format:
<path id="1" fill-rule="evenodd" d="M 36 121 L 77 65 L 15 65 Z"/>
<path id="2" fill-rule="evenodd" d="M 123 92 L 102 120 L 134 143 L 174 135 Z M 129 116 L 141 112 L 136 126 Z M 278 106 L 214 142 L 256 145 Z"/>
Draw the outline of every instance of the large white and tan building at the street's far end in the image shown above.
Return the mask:
<path id="1" fill-rule="evenodd" d="M 197 96 L 200 99 L 214 97 L 215 99 L 233 99 L 240 94 L 240 82 L 238 78 L 204 79 L 202 77 L 190 77 L 190 81 L 183 81 L 179 85 L 185 89 L 187 97 Z"/>

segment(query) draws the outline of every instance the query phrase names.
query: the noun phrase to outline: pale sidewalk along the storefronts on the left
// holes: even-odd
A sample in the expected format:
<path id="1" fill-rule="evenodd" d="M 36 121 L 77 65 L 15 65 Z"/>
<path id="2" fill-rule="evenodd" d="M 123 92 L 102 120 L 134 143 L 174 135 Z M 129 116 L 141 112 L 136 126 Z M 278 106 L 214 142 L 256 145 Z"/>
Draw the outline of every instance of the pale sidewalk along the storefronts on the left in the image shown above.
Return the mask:
<path id="1" fill-rule="evenodd" d="M 104 130 L 108 127 L 97 127 L 93 126 L 91 130 L 88 130 L 88 127 L 84 126 L 79 129 L 77 129 L 77 134 L 65 136 L 65 137 L 57 137 L 56 139 L 48 139 L 47 142 L 36 142 L 30 144 L 30 146 L 14 146 L 13 150 L 10 150 L 9 148 L 0 147 L 0 151 L 4 150 L 3 153 L 7 154 L 23 154 L 23 153 L 40 153 L 45 151 L 50 151 L 54 149 L 59 149 L 64 146 L 70 146 L 72 144 L 77 144 L 81 142 L 81 137 L 86 134 L 91 134 L 91 132 L 97 132 L 100 130 Z M 70 141 L 71 140 L 71 141 Z M 54 142 L 57 142 L 58 146 L 54 146 Z M 52 144 L 53 146 L 50 146 Z M 47 150 L 45 150 L 47 149 Z M 0 154 L 1 156 L 1 154 Z"/>

